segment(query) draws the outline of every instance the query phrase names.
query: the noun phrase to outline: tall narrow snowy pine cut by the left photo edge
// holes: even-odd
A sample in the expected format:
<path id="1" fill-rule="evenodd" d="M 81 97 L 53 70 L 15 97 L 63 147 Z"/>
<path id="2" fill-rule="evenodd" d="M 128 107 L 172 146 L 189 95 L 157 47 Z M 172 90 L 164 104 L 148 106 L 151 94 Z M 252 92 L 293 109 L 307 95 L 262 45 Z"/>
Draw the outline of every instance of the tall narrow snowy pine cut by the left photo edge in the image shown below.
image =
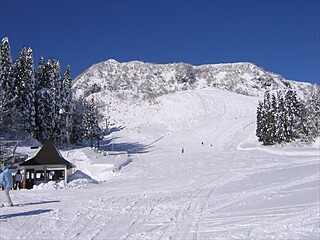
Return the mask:
<path id="1" fill-rule="evenodd" d="M 12 61 L 9 39 L 3 38 L 0 51 L 0 83 L 2 89 L 1 99 L 1 128 L 2 130 L 14 129 L 17 114 L 15 97 L 16 87 L 13 77 L 14 64 Z"/>

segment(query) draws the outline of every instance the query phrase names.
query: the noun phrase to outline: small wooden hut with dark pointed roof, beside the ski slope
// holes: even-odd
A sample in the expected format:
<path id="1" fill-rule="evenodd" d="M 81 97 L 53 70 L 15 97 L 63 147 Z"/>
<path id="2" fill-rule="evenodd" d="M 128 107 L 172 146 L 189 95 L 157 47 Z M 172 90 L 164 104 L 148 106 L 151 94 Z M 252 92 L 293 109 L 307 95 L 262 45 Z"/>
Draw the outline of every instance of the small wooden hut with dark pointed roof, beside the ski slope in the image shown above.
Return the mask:
<path id="1" fill-rule="evenodd" d="M 49 181 L 68 181 L 73 168 L 72 163 L 64 159 L 51 140 L 47 140 L 35 157 L 20 164 L 24 169 L 24 188 Z"/>

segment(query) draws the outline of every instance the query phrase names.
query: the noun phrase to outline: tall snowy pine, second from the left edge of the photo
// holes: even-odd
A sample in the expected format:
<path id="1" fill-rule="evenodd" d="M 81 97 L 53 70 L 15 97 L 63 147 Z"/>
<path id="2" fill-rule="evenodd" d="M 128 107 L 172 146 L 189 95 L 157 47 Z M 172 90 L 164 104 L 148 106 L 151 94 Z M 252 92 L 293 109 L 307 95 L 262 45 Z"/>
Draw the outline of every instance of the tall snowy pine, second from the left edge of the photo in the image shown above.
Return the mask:
<path id="1" fill-rule="evenodd" d="M 14 77 L 17 87 L 16 107 L 20 131 L 30 134 L 35 128 L 35 73 L 32 49 L 23 47 L 15 64 Z"/>

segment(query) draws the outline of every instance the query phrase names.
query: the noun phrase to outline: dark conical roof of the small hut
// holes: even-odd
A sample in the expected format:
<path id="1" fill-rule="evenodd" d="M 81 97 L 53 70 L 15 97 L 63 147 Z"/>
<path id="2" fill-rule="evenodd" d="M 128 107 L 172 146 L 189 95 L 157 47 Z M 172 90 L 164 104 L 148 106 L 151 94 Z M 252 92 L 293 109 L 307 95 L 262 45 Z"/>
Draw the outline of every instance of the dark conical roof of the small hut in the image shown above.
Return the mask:
<path id="1" fill-rule="evenodd" d="M 54 143 L 51 140 L 47 140 L 37 155 L 20 166 L 31 166 L 31 165 L 53 165 L 53 164 L 62 164 L 72 166 L 70 162 L 64 159 Z"/>

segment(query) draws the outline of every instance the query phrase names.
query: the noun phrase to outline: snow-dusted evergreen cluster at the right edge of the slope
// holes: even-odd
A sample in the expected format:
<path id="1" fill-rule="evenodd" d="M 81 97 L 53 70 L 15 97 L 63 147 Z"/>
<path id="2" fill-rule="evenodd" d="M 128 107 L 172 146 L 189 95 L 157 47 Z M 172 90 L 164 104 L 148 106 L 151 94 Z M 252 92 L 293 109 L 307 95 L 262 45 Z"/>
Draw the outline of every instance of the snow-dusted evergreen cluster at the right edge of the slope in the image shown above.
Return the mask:
<path id="1" fill-rule="evenodd" d="M 305 102 L 293 90 L 265 92 L 257 108 L 256 136 L 264 145 L 292 142 L 297 139 L 312 142 L 319 136 L 319 88 Z"/>

